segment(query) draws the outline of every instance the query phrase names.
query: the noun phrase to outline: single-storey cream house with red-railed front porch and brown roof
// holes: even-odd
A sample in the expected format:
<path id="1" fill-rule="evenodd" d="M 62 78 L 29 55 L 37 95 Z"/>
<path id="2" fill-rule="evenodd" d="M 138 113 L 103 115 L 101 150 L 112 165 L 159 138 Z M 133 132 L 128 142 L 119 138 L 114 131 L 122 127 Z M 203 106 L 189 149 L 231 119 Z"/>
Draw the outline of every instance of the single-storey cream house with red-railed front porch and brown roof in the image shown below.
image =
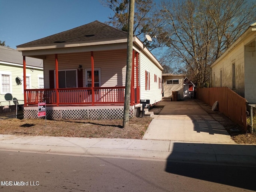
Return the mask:
<path id="1" fill-rule="evenodd" d="M 127 33 L 94 21 L 17 46 L 24 67 L 29 57 L 44 60 L 44 89 L 26 89 L 24 118 L 37 117 L 46 102 L 48 118 L 122 118 L 127 60 Z M 133 37 L 130 117 L 140 99 L 162 99 L 162 66 Z M 26 71 L 24 71 L 24 76 Z"/>

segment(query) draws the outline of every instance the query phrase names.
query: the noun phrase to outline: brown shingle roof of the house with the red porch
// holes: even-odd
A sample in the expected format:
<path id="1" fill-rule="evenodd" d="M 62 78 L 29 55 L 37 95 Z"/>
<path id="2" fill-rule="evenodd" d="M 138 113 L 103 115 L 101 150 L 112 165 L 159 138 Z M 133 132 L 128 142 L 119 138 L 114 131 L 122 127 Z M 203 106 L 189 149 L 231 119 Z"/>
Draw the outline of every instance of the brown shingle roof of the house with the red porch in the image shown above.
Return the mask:
<path id="1" fill-rule="evenodd" d="M 25 48 L 39 45 L 44 46 L 58 43 L 100 42 L 105 40 L 117 40 L 124 38 L 127 38 L 127 32 L 124 32 L 96 20 L 80 27 L 76 27 L 42 39 L 18 45 L 17 48 Z"/>

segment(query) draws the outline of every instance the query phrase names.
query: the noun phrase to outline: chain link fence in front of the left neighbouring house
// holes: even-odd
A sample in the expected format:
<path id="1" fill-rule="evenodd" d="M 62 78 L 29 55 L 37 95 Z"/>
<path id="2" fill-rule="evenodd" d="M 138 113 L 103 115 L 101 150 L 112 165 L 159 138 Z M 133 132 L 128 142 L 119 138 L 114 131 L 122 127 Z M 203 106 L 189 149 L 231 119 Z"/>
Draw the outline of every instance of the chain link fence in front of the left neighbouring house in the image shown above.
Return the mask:
<path id="1" fill-rule="evenodd" d="M 24 100 L 0 101 L 0 119 L 23 118 Z"/>

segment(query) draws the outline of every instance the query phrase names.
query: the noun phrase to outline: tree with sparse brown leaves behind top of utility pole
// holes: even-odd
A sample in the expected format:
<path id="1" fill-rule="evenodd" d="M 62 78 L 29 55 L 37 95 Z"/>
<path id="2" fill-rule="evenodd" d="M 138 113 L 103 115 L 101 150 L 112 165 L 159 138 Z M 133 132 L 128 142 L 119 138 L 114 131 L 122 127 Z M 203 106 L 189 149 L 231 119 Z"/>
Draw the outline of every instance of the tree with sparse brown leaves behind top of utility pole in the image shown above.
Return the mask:
<path id="1" fill-rule="evenodd" d="M 130 0 L 102 0 L 102 4 L 114 13 L 105 23 L 127 32 L 129 2 Z M 154 0 L 135 0 L 133 32 L 149 50 L 163 46 L 157 40 L 162 26 L 162 19 L 156 14 L 157 8 Z M 152 37 L 152 42 L 146 40 L 146 34 Z"/>

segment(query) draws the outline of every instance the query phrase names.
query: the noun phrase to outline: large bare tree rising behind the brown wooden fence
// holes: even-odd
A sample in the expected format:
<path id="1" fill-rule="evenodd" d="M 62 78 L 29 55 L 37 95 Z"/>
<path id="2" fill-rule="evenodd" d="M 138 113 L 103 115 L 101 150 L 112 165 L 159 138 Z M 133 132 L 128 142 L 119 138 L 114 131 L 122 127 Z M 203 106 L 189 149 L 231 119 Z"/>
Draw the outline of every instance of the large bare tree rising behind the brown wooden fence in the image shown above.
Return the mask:
<path id="1" fill-rule="evenodd" d="M 256 21 L 255 10 L 256 2 L 245 0 L 162 1 L 164 26 L 158 40 L 203 87 L 210 64 Z"/>

